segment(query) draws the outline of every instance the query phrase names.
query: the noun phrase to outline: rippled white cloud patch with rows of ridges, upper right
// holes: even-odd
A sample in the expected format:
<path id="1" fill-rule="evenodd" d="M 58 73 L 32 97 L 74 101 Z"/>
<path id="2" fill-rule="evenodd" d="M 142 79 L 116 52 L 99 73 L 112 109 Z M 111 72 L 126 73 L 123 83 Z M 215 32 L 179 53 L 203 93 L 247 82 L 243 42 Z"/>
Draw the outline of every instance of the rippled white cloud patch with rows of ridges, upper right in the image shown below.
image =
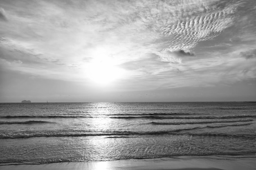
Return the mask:
<path id="1" fill-rule="evenodd" d="M 182 5 L 177 6 L 177 10 L 170 10 L 172 19 L 168 18 L 166 24 L 159 26 L 161 35 L 172 36 L 169 46 L 164 50 L 189 50 L 200 41 L 218 36 L 234 24 L 232 15 L 240 5 L 230 4 L 228 1 L 194 1 L 195 3 L 188 4 L 185 4 L 186 1 L 180 2 Z"/>

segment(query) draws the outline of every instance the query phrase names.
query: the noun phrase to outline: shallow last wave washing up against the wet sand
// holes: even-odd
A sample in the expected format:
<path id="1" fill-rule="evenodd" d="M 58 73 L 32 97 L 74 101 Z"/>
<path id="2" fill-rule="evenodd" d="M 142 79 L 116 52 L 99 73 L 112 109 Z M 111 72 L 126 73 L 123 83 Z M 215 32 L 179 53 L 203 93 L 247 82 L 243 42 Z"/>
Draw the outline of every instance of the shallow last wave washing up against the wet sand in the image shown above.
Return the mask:
<path id="1" fill-rule="evenodd" d="M 25 160 L 25 161 L 17 161 L 12 159 L 7 160 L 0 160 L 0 167 L 1 166 L 10 166 L 10 165 L 38 165 L 38 164 L 49 164 L 49 163 L 70 163 L 70 162 L 95 162 L 95 161 L 117 161 L 117 160 L 126 160 L 126 159 L 139 159 L 142 161 L 172 161 L 174 158 L 177 160 L 187 159 L 186 157 L 195 157 L 202 159 L 202 157 L 206 159 L 220 159 L 220 160 L 238 160 L 238 159 L 255 159 L 256 152 L 252 151 L 236 151 L 236 152 L 205 152 L 205 153 L 188 153 L 188 152 L 181 152 L 181 153 L 173 153 L 173 154 L 164 154 L 164 155 L 129 155 L 129 156 L 121 156 L 121 157 L 108 157 L 102 158 L 97 160 L 88 160 L 88 159 L 81 159 L 81 158 L 58 158 L 58 159 L 40 159 L 40 160 Z M 151 160 L 150 160 L 151 159 Z M 193 168 L 191 168 L 193 169 Z M 211 168 L 209 169 L 211 170 Z"/>

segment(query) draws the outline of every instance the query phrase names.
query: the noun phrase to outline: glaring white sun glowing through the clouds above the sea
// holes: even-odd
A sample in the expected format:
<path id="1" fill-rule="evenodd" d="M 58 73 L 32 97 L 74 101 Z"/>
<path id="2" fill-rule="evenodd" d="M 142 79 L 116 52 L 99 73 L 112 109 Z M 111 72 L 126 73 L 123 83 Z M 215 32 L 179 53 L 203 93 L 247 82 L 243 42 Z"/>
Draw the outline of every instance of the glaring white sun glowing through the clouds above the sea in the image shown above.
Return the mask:
<path id="1" fill-rule="evenodd" d="M 87 69 L 88 78 L 98 85 L 108 85 L 122 78 L 124 70 L 109 62 L 92 62 Z"/>

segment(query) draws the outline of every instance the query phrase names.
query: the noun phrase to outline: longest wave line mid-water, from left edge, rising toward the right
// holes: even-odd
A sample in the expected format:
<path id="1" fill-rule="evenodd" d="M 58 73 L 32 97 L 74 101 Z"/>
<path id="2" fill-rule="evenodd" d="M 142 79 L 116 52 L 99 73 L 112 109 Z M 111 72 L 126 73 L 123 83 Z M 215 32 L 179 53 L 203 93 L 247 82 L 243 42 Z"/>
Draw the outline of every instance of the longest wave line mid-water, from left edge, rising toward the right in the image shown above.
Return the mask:
<path id="1" fill-rule="evenodd" d="M 29 137 L 83 137 L 83 136 L 130 136 L 130 135 L 184 135 L 181 133 L 187 130 L 204 129 L 204 128 L 221 128 L 226 126 L 247 126 L 247 124 L 231 124 L 231 125 L 220 125 L 220 126 L 204 126 L 194 128 L 184 128 L 175 130 L 159 130 L 159 131 L 146 131 L 146 132 L 135 132 L 135 131 L 105 131 L 105 132 L 41 132 L 41 133 L 29 133 L 24 132 L 23 134 L 0 134 L 0 139 L 16 139 L 16 138 L 29 138 Z M 34 131 L 33 131 L 34 132 Z"/>

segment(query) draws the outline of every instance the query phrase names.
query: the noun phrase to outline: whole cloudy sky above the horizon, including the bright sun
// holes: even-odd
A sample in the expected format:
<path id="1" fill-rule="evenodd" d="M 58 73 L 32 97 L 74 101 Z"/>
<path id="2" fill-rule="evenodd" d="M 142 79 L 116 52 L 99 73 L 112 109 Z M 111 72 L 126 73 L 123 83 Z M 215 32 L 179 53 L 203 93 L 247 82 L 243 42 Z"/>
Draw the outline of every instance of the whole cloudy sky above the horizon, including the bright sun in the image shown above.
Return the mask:
<path id="1" fill-rule="evenodd" d="M 0 102 L 256 101 L 255 0 L 0 0 Z"/>

